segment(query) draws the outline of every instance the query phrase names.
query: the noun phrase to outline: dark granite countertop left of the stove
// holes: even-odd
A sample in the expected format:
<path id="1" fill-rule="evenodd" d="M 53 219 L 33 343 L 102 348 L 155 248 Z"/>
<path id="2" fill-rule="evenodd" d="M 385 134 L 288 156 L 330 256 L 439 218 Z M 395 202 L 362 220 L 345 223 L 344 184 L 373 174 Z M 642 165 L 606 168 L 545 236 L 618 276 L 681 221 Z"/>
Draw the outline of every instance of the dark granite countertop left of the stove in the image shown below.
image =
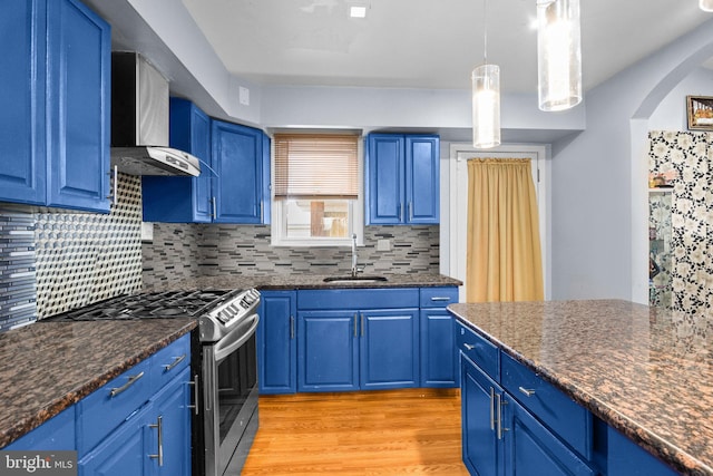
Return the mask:
<path id="1" fill-rule="evenodd" d="M 0 333 L 0 448 L 195 326 L 192 319 L 37 322 Z"/>

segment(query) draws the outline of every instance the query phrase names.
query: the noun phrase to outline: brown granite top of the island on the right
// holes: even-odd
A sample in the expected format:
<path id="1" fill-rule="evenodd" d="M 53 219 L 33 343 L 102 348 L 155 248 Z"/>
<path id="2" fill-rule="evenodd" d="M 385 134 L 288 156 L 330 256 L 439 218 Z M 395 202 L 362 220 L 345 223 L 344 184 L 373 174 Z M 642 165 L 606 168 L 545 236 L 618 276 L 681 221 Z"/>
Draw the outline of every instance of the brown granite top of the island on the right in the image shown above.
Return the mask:
<path id="1" fill-rule="evenodd" d="M 448 309 L 681 473 L 713 475 L 713 311 L 618 300 Z"/>

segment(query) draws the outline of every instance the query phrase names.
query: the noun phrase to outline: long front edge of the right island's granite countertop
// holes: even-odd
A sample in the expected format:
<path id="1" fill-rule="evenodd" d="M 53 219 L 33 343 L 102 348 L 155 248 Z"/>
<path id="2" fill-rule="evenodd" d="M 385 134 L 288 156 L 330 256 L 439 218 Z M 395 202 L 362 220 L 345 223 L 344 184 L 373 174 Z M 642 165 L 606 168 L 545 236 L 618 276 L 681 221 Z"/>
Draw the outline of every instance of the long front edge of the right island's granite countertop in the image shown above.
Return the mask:
<path id="1" fill-rule="evenodd" d="M 568 383 L 567 381 L 560 379 L 555 372 L 549 371 L 546 367 L 537 366 L 531 360 L 526 359 L 517 350 L 506 346 L 504 342 L 500 342 L 498 339 L 485 332 L 482 329 L 480 329 L 466 318 L 459 315 L 452 309 L 448 308 L 448 310 L 456 317 L 456 320 L 458 322 L 477 332 L 479 336 L 498 347 L 498 349 L 504 350 L 508 356 L 512 357 L 515 360 L 536 372 L 547 382 L 557 387 L 565 395 L 585 407 L 602 421 L 621 431 L 632 441 L 646 449 L 654 457 L 661 459 L 673 469 L 683 474 L 713 475 L 713 468 L 709 467 L 700 459 L 695 458 L 688 453 L 683 451 L 681 448 L 658 437 L 651 430 L 639 426 L 631 418 L 621 415 L 615 408 L 612 408 L 599 401 L 595 396 L 580 391 L 576 387 L 576 385 Z"/>

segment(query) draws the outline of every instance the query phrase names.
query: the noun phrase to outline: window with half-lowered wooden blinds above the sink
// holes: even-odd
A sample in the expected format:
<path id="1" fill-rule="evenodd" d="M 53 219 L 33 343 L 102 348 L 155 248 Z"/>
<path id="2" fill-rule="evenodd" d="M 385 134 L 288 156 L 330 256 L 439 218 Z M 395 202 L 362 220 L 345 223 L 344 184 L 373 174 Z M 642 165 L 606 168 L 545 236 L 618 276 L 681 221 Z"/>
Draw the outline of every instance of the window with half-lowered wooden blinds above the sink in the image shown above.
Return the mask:
<path id="1" fill-rule="evenodd" d="M 274 135 L 273 244 L 350 245 L 363 230 L 355 134 Z"/>

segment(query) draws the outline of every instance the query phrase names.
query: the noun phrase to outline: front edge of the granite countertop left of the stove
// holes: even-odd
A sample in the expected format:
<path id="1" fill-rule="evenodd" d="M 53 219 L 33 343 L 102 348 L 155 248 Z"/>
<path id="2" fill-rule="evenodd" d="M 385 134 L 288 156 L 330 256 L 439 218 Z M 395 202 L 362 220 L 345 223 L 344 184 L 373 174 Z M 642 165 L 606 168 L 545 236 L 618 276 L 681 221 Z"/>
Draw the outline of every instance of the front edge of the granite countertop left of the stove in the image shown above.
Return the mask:
<path id="1" fill-rule="evenodd" d="M 47 422 L 52 417 L 59 415 L 61 411 L 77 404 L 82 398 L 87 397 L 89 394 L 94 392 L 96 389 L 100 388 L 111 379 L 116 378 L 120 373 L 130 369 L 135 365 L 145 360 L 149 356 L 158 352 L 160 349 L 168 347 L 169 343 L 178 340 L 178 338 L 187 334 L 193 329 L 196 328 L 197 321 L 187 320 L 186 326 L 180 329 L 166 334 L 166 338 L 157 341 L 153 346 L 146 347 L 144 350 L 138 352 L 137 354 L 126 359 L 121 365 L 116 366 L 114 368 L 107 369 L 104 373 L 98 376 L 92 376 L 88 379 L 84 385 L 78 387 L 75 390 L 71 390 L 67 395 L 64 395 L 59 398 L 53 399 L 48 405 L 43 406 L 38 410 L 38 412 L 33 417 L 23 418 L 16 421 L 12 426 L 7 428 L 4 431 L 0 431 L 0 449 L 4 448 L 16 439 L 27 435 L 33 429 L 38 428 L 42 424 Z"/>

